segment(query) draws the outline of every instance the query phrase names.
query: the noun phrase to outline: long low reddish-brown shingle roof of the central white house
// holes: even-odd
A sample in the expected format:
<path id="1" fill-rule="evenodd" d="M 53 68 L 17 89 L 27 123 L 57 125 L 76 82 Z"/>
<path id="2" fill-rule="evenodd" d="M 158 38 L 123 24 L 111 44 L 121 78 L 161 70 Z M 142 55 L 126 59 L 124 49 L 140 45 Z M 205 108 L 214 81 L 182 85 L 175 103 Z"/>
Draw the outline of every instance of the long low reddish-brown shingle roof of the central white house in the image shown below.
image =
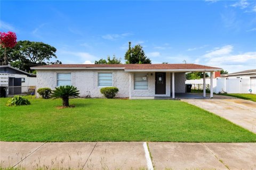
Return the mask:
<path id="1" fill-rule="evenodd" d="M 119 69 L 125 71 L 220 71 L 218 67 L 198 64 L 52 64 L 31 67 L 35 70 L 55 69 Z"/>

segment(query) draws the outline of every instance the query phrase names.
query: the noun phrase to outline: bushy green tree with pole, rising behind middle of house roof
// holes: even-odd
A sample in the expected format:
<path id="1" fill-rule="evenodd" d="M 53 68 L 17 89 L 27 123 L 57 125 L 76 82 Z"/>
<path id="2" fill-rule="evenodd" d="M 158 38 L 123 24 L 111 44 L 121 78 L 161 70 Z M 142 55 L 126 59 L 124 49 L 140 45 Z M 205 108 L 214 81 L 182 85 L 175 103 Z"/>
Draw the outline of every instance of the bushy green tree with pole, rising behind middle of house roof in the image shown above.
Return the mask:
<path id="1" fill-rule="evenodd" d="M 129 49 L 125 53 L 124 59 L 127 64 L 151 64 L 151 60 L 145 55 L 141 45 L 135 45 L 131 48 L 129 42 Z"/>

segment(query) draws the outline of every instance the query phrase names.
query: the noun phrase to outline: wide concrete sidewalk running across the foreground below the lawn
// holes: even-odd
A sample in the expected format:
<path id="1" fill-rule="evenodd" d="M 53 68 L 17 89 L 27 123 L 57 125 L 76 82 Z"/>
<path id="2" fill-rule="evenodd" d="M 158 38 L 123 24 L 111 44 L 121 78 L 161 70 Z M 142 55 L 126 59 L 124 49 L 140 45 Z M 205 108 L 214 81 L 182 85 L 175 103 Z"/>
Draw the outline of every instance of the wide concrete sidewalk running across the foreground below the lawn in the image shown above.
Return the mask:
<path id="1" fill-rule="evenodd" d="M 0 142 L 0 160 L 2 167 L 26 169 L 150 169 L 151 162 L 155 169 L 256 169 L 256 143 L 148 142 L 151 160 L 145 146 L 143 142 Z"/>

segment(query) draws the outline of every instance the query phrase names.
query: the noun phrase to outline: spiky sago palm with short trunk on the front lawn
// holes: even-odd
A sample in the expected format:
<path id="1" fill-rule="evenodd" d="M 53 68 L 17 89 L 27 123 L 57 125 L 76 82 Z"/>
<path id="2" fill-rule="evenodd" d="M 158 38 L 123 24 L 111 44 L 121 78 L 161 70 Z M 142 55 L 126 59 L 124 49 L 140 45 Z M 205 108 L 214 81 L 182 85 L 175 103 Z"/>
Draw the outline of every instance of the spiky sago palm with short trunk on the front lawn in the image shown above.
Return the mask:
<path id="1" fill-rule="evenodd" d="M 74 86 L 60 86 L 52 91 L 51 97 L 61 98 L 63 106 L 69 106 L 69 97 L 79 97 L 79 90 Z"/>

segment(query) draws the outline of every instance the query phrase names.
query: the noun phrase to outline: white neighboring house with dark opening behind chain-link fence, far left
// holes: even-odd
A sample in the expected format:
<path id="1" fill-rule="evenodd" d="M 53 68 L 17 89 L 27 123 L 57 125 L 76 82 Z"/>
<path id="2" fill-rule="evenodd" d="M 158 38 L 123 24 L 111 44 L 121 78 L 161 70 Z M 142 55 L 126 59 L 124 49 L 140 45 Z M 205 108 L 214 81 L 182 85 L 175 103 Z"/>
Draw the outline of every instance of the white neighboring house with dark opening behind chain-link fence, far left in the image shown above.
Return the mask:
<path id="1" fill-rule="evenodd" d="M 27 93 L 36 87 L 36 74 L 21 71 L 9 65 L 0 66 L 0 96 Z"/>

